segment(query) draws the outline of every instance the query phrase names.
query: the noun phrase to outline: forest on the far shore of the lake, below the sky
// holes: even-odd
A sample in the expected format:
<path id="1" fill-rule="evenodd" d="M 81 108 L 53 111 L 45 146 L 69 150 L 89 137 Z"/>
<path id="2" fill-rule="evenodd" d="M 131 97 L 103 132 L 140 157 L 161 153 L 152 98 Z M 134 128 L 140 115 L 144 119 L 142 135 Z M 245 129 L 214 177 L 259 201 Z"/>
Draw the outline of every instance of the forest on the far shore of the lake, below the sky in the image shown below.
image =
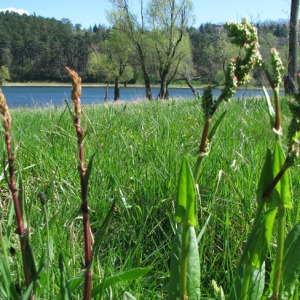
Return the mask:
<path id="1" fill-rule="evenodd" d="M 101 21 L 101 20 L 99 20 Z M 270 47 L 276 47 L 283 61 L 287 61 L 288 23 L 261 22 L 258 28 L 262 54 Z M 154 34 L 154 30 L 147 33 Z M 191 59 L 184 69 L 195 84 L 221 85 L 224 80 L 224 65 L 236 51 L 230 43 L 223 26 L 206 23 L 198 28 L 186 28 L 187 53 Z M 115 40 L 115 42 L 111 42 Z M 112 77 L 108 67 L 102 72 L 94 68 L 93 62 L 99 57 L 116 55 L 117 47 L 126 44 L 126 37 L 114 34 L 112 27 L 101 24 L 82 29 L 80 24 L 72 24 L 69 19 L 56 20 L 36 15 L 19 15 L 13 12 L 0 13 L 0 67 L 6 67 L 13 82 L 55 81 L 66 82 L 65 66 L 78 71 L 83 82 L 108 83 Z M 114 49 L 114 50 L 112 50 Z M 151 84 L 159 83 L 159 66 L 154 47 L 148 47 L 152 57 L 150 69 Z M 142 83 L 140 65 L 134 60 L 135 49 L 129 49 L 127 72 L 120 76 L 121 83 Z M 152 53 L 151 53 L 152 52 Z M 108 62 L 112 65 L 112 62 Z M 105 65 L 102 61 L 102 65 Z M 107 65 L 107 63 L 106 63 Z M 172 83 L 182 83 L 186 77 L 178 68 L 171 78 Z M 186 78 L 185 78 L 186 79 Z M 261 84 L 263 76 L 254 72 L 252 84 Z M 112 80 L 113 82 L 113 80 Z"/>

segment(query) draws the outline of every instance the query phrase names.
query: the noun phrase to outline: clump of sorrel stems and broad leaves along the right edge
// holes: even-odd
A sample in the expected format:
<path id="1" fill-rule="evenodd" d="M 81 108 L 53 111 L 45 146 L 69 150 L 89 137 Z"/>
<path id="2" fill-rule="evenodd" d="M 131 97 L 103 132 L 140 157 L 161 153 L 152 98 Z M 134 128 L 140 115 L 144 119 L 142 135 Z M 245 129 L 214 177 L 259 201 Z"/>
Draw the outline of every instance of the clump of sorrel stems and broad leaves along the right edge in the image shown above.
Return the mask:
<path id="1" fill-rule="evenodd" d="M 288 129 L 288 151 L 282 145 L 281 109 L 279 87 L 284 67 L 275 49 L 271 49 L 271 67 L 259 61 L 273 90 L 275 109 L 266 93 L 270 123 L 275 134 L 274 149 L 267 149 L 257 188 L 257 210 L 253 229 L 244 248 L 238 266 L 230 299 L 290 299 L 300 273 L 300 223 L 286 234 L 287 209 L 293 207 L 288 169 L 299 157 L 299 94 L 290 100 L 292 120 Z M 300 83 L 300 82 L 299 82 Z M 300 86 L 299 86 L 300 87 Z M 273 227 L 275 227 L 273 236 Z M 276 255 L 272 257 L 270 277 L 266 280 L 266 260 L 273 239 L 276 239 Z"/>

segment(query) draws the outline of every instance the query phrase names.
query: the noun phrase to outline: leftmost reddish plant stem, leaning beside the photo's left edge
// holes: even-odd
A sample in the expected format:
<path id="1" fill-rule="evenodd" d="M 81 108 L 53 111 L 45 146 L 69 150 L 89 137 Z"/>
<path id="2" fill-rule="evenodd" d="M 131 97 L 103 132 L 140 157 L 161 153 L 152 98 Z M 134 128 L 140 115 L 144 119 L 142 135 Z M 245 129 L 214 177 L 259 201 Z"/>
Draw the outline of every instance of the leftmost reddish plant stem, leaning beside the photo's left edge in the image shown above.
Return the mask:
<path id="1" fill-rule="evenodd" d="M 30 276 L 28 272 L 28 267 L 26 264 L 26 243 L 27 243 L 27 236 L 26 236 L 26 230 L 23 223 L 22 218 L 22 212 L 20 208 L 20 202 L 18 197 L 18 189 L 15 181 L 14 176 L 14 156 L 11 150 L 11 139 L 10 139 L 10 132 L 8 128 L 10 128 L 10 122 L 7 117 L 4 116 L 4 123 L 5 123 L 5 143 L 6 143 L 6 150 L 7 150 L 7 156 L 8 156 L 8 167 L 9 167 L 9 188 L 13 197 L 14 202 L 14 208 L 15 208 L 15 214 L 17 219 L 17 233 L 20 238 L 20 245 L 21 245 L 21 253 L 22 253 L 22 262 L 23 262 L 23 271 L 25 276 L 25 284 L 28 288 L 30 285 Z M 30 299 L 34 299 L 34 297 L 31 297 Z"/>

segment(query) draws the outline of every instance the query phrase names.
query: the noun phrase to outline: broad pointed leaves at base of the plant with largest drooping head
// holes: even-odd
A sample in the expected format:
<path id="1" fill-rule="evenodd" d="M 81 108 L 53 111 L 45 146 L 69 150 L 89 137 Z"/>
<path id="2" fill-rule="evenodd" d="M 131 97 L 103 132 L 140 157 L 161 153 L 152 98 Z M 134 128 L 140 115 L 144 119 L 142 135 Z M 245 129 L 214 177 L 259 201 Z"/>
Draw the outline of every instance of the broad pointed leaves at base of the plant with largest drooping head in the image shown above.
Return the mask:
<path id="1" fill-rule="evenodd" d="M 200 260 L 195 233 L 197 226 L 195 183 L 186 159 L 183 159 L 175 220 L 178 224 L 170 268 L 169 299 L 200 298 Z"/>

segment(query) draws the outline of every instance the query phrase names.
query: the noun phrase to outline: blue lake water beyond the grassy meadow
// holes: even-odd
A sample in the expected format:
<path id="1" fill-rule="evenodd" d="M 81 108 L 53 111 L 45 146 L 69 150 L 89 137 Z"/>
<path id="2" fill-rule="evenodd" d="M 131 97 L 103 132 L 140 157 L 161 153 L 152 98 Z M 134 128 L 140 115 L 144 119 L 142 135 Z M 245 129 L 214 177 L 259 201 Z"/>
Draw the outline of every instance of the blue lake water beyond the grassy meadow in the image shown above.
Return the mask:
<path id="1" fill-rule="evenodd" d="M 61 106 L 65 104 L 65 99 L 71 101 L 71 86 L 60 87 L 1 87 L 5 95 L 7 104 L 10 108 L 17 107 L 45 107 L 45 106 Z M 152 88 L 153 97 L 159 93 L 158 88 Z M 203 90 L 199 90 L 202 95 Z M 170 88 L 170 98 L 186 98 L 193 99 L 194 95 L 188 88 Z M 220 94 L 220 90 L 213 90 L 214 96 Z M 235 98 L 263 96 L 262 90 L 238 90 Z M 105 97 L 104 87 L 82 87 L 81 102 L 82 104 L 103 103 Z M 109 88 L 108 101 L 113 101 L 114 89 Z M 123 87 L 120 90 L 120 98 L 123 101 L 136 101 L 145 99 L 144 88 Z"/>

